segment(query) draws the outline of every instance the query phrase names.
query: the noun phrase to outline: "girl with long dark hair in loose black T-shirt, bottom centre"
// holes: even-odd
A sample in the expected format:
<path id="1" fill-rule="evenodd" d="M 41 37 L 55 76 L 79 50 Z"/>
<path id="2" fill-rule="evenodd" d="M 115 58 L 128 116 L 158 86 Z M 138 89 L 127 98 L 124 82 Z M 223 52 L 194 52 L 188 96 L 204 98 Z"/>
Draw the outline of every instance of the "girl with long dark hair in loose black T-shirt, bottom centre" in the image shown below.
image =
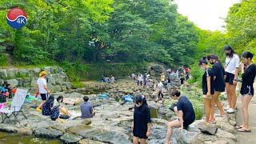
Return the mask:
<path id="1" fill-rule="evenodd" d="M 150 108 L 142 95 L 135 97 L 134 122 L 131 125 L 134 134 L 134 144 L 146 144 L 146 138 L 150 136 Z"/>

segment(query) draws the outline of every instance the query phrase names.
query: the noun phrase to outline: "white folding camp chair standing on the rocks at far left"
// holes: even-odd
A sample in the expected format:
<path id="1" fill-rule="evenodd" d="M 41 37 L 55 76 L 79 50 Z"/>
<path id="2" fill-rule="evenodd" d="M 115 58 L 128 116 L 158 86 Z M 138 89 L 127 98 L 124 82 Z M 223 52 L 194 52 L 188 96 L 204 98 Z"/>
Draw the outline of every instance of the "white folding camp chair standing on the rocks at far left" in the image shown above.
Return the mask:
<path id="1" fill-rule="evenodd" d="M 12 122 L 15 125 L 18 119 L 19 112 L 21 112 L 24 118 L 26 118 L 26 115 L 22 111 L 22 106 L 25 102 L 27 92 L 28 90 L 17 89 L 14 95 L 13 102 L 11 103 L 10 109 L 0 109 L 0 113 L 2 113 L 2 122 L 4 122 L 6 118 L 8 118 L 10 122 Z M 14 121 L 10 119 L 12 115 L 14 115 Z"/>

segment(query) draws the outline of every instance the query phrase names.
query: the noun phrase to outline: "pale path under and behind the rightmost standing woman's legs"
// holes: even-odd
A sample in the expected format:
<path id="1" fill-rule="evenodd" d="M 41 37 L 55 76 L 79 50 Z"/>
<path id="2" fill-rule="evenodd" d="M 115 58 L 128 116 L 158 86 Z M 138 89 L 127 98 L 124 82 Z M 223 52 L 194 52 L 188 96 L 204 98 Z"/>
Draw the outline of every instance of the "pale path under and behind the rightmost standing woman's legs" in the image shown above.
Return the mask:
<path id="1" fill-rule="evenodd" d="M 250 129 L 252 130 L 251 133 L 239 133 L 235 132 L 235 135 L 238 138 L 239 144 L 249 144 L 256 142 L 256 84 L 254 83 L 254 97 L 251 99 L 249 105 L 249 122 L 250 122 Z M 241 99 L 240 96 L 238 97 L 238 114 L 237 114 L 237 126 L 242 124 L 242 110 L 241 110 Z"/>

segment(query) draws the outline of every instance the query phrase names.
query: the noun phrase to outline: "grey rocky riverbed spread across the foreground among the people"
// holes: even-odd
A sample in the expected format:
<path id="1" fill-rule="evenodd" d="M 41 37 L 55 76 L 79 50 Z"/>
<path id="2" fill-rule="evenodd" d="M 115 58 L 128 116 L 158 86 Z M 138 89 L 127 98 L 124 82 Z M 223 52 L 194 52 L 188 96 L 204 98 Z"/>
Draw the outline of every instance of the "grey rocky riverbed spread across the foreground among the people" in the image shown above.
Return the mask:
<path id="1" fill-rule="evenodd" d="M 50 117 L 43 116 L 34 109 L 38 106 L 38 100 L 32 100 L 25 103 L 23 110 L 26 118 L 20 114 L 17 124 L 14 126 L 10 122 L 0 124 L 0 130 L 11 133 L 36 135 L 45 138 L 59 138 L 66 143 L 116 143 L 126 144 L 132 143 L 132 130 L 130 124 L 133 121 L 134 104 L 130 102 L 119 102 L 118 99 L 125 94 L 144 94 L 148 100 L 148 105 L 158 113 L 164 114 L 165 118 L 152 118 L 151 135 L 148 142 L 164 143 L 166 138 L 167 120 L 175 119 L 175 115 L 168 110 L 166 102 L 150 101 L 150 88 L 137 86 L 133 80 L 120 80 L 114 84 L 94 83 L 98 87 L 104 87 L 109 98 L 98 98 L 97 94 L 86 94 L 90 98 L 90 102 L 94 106 L 96 112 L 95 117 L 91 119 L 74 119 L 65 120 L 64 122 L 54 122 Z M 89 83 L 90 85 L 90 83 Z M 95 87 L 94 85 L 92 85 Z M 174 83 L 174 86 L 178 84 Z M 88 87 L 85 88 L 88 90 Z M 55 93 L 56 97 L 62 95 L 64 98 L 78 98 L 75 105 L 64 105 L 68 110 L 80 111 L 80 104 L 84 94 L 83 89 L 70 90 L 68 92 Z M 88 93 L 86 91 L 85 93 Z M 168 99 L 168 94 L 165 94 Z M 172 143 L 235 143 L 236 138 L 232 134 L 235 125 L 235 114 L 229 114 L 224 118 L 216 118 L 216 125 L 208 126 L 201 120 L 194 122 L 188 130 L 178 132 L 174 129 Z M 167 119 L 167 120 L 166 120 Z M 199 124 L 200 123 L 200 124 Z M 198 129 L 198 124 L 203 132 L 212 132 L 216 128 L 216 132 L 212 135 L 202 133 Z M 214 127 L 214 128 L 213 128 Z M 203 128 L 203 129 L 202 129 Z"/>

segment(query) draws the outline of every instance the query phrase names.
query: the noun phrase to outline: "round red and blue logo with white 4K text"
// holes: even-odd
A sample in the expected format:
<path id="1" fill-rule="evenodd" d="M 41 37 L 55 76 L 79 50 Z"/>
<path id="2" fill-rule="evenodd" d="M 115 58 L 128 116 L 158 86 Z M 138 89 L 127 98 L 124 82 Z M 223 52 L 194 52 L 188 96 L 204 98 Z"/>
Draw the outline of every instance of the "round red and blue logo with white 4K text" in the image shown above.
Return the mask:
<path id="1" fill-rule="evenodd" d="M 21 29 L 26 25 L 26 12 L 20 8 L 11 9 L 6 15 L 8 25 L 14 29 Z"/>

